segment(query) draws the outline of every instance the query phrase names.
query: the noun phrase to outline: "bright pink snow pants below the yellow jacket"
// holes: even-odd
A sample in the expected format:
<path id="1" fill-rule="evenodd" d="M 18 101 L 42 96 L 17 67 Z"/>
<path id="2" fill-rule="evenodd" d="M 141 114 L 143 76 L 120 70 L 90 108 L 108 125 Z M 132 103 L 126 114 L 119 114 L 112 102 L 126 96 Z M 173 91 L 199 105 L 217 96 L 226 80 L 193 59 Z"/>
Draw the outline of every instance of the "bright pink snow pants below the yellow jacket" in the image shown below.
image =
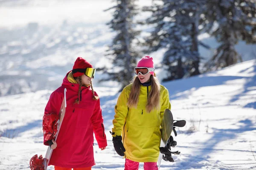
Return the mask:
<path id="1" fill-rule="evenodd" d="M 125 159 L 125 170 L 139 170 L 139 162 Z M 144 170 L 158 170 L 157 162 L 144 162 Z"/>

